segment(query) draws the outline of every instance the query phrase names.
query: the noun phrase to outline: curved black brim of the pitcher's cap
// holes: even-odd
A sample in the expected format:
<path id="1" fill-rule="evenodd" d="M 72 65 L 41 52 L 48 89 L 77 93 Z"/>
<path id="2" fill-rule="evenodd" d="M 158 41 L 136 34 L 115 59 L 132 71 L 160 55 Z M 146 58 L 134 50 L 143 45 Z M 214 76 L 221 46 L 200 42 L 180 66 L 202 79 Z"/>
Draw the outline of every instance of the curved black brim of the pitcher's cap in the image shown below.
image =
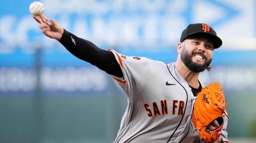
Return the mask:
<path id="1" fill-rule="evenodd" d="M 207 33 L 207 32 L 194 32 L 194 33 L 191 33 L 188 36 L 186 36 L 183 40 L 193 37 L 193 36 L 204 36 L 204 37 L 209 38 L 213 42 L 214 49 L 217 49 L 222 45 L 222 40 L 218 36 L 213 35 L 211 33 Z"/>

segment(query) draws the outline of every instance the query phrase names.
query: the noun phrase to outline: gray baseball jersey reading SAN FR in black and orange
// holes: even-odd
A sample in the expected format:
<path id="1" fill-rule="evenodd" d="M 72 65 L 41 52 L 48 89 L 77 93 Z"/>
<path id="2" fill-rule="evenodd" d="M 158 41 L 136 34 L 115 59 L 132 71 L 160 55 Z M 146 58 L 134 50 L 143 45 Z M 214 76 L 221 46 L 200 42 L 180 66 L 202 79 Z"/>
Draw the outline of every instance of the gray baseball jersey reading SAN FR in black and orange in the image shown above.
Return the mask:
<path id="1" fill-rule="evenodd" d="M 112 77 L 128 98 L 114 143 L 200 143 L 191 121 L 195 98 L 175 63 L 113 52 L 123 78 Z M 203 86 L 203 85 L 202 85 Z M 223 141 L 227 140 L 224 118 Z"/>

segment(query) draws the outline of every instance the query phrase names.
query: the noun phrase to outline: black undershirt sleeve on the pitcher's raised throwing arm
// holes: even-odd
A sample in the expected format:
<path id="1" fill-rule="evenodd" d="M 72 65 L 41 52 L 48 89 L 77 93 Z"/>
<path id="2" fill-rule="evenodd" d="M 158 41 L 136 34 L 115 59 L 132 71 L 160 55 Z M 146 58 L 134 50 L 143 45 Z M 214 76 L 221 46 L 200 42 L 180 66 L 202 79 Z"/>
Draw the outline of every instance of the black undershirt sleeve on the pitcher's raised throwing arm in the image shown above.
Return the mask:
<path id="1" fill-rule="evenodd" d="M 59 42 L 77 58 L 97 66 L 108 74 L 123 77 L 119 63 L 111 51 L 100 49 L 90 41 L 79 38 L 65 29 Z"/>

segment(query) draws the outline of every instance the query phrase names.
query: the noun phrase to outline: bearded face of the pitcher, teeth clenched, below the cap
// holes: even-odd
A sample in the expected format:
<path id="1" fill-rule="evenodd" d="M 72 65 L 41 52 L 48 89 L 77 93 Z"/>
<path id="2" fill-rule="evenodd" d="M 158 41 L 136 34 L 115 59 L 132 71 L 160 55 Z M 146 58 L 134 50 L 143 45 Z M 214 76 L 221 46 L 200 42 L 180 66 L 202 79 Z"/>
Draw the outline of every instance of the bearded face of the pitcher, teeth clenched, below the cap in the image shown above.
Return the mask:
<path id="1" fill-rule="evenodd" d="M 213 44 L 205 37 L 192 37 L 184 41 L 181 60 L 192 72 L 204 71 L 212 61 Z"/>

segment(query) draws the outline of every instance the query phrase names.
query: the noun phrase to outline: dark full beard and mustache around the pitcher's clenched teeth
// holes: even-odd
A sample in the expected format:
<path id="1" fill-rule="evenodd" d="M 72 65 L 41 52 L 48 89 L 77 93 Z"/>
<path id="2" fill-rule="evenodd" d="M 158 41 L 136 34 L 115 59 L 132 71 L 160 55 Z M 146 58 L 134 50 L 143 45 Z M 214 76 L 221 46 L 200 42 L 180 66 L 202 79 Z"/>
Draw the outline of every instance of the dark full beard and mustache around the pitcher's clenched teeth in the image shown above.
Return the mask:
<path id="1" fill-rule="evenodd" d="M 200 54 L 203 57 L 203 59 L 205 59 L 206 61 L 203 64 L 198 64 L 196 62 L 193 62 L 192 56 L 194 54 Z M 182 52 L 181 52 L 181 60 L 192 72 L 202 72 L 211 64 L 212 58 L 207 59 L 207 57 L 201 52 L 193 52 L 192 55 L 190 55 L 186 47 L 183 46 Z"/>

